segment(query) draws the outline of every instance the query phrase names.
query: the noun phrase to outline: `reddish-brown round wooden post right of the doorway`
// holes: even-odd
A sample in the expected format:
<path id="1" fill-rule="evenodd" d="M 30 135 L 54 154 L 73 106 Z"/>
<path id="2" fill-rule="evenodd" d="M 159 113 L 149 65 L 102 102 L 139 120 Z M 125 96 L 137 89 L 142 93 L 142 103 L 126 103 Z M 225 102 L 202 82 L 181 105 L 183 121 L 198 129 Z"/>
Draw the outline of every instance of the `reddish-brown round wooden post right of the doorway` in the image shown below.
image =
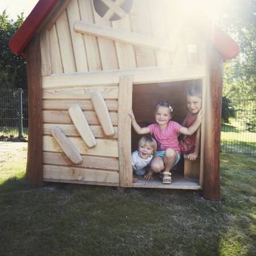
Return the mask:
<path id="1" fill-rule="evenodd" d="M 205 199 L 220 200 L 220 134 L 223 58 L 215 49 L 209 53 L 209 82 L 204 112 L 204 184 Z"/>

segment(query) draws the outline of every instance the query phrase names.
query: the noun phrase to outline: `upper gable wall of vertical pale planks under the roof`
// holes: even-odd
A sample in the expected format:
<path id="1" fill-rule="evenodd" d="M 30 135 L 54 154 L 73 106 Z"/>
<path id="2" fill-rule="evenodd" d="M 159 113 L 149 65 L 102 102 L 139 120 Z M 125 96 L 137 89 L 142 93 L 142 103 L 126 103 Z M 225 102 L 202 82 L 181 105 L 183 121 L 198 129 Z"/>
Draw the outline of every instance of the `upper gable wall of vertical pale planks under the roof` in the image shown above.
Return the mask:
<path id="1" fill-rule="evenodd" d="M 67 2 L 57 20 L 41 32 L 42 75 L 88 72 L 136 67 L 163 67 L 170 64 L 199 64 L 203 61 L 204 40 L 189 20 L 180 15 L 177 1 L 133 0 L 125 18 L 109 22 L 93 7 L 93 0 Z M 91 22 L 171 42 L 175 52 L 148 49 L 74 32 L 76 20 Z M 46 30 L 46 31 L 45 31 Z M 197 52 L 189 53 L 189 45 Z"/>

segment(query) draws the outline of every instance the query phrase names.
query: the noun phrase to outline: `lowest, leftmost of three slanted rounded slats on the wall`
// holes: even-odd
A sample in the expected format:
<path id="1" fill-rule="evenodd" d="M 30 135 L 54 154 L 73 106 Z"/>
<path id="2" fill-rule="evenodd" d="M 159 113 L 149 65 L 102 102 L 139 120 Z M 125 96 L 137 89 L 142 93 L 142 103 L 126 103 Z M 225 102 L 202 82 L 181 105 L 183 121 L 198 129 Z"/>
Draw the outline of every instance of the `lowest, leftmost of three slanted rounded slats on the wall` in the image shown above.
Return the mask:
<path id="1" fill-rule="evenodd" d="M 82 162 L 82 156 L 79 154 L 79 151 L 77 151 L 76 147 L 69 141 L 63 131 L 61 131 L 60 127 L 53 127 L 51 129 L 51 134 L 72 163 L 80 164 Z"/>

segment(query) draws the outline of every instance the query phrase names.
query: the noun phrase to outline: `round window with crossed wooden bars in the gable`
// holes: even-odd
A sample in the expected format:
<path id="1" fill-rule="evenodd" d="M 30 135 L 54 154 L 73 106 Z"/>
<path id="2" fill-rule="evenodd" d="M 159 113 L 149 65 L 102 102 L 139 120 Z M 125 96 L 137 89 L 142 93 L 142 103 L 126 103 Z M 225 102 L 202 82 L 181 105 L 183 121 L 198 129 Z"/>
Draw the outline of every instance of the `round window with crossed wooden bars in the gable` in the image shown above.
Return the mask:
<path id="1" fill-rule="evenodd" d="M 133 0 L 93 0 L 96 13 L 104 19 L 122 19 L 133 5 Z"/>

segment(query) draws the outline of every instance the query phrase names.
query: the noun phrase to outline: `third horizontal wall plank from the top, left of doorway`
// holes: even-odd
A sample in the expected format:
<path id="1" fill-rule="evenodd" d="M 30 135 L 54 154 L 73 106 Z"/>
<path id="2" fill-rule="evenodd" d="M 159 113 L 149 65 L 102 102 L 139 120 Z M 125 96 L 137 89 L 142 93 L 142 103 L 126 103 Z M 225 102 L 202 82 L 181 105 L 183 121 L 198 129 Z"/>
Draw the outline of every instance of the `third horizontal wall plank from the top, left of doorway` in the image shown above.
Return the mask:
<path id="1" fill-rule="evenodd" d="M 89 125 L 100 125 L 95 112 L 84 112 Z M 113 125 L 117 125 L 117 113 L 109 113 Z M 44 123 L 72 123 L 68 112 L 65 111 L 43 111 Z"/>

